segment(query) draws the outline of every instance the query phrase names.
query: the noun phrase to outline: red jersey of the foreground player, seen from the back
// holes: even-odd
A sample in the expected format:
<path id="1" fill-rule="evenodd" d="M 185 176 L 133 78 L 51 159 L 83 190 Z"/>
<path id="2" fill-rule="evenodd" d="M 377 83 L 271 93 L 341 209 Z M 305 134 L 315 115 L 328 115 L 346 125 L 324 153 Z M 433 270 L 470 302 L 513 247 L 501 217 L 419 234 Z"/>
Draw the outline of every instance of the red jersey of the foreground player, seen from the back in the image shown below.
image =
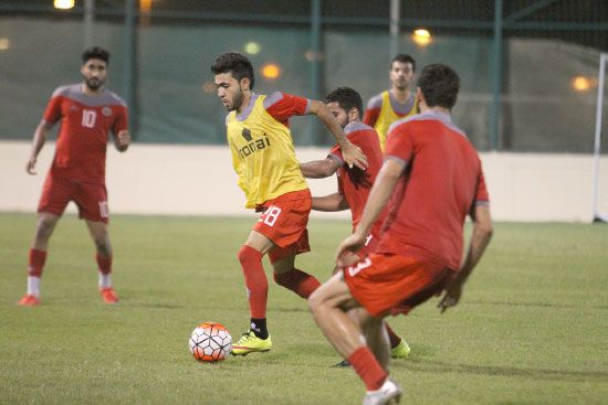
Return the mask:
<path id="1" fill-rule="evenodd" d="M 427 111 L 391 126 L 386 159 L 406 170 L 376 252 L 422 256 L 458 270 L 464 220 L 475 204 L 489 204 L 476 150 L 448 115 Z"/>

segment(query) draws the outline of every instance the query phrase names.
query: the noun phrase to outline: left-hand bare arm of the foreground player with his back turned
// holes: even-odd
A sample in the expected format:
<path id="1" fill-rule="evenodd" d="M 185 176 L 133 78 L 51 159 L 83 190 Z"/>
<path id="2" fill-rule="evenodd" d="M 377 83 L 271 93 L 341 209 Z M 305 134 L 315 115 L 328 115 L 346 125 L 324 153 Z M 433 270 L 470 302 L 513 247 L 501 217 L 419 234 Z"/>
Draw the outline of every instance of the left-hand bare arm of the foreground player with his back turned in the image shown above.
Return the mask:
<path id="1" fill-rule="evenodd" d="M 371 226 L 388 204 L 392 190 L 395 190 L 395 185 L 401 177 L 403 169 L 405 164 L 402 161 L 395 159 L 385 160 L 385 163 L 382 164 L 382 168 L 378 172 L 378 177 L 371 186 L 371 191 L 369 192 L 369 198 L 365 204 L 361 221 L 359 222 L 357 230 L 338 246 L 336 254 L 338 267 L 344 267 L 342 257 L 345 256 L 345 254 L 357 252 L 365 245 L 365 241 L 371 231 Z"/>

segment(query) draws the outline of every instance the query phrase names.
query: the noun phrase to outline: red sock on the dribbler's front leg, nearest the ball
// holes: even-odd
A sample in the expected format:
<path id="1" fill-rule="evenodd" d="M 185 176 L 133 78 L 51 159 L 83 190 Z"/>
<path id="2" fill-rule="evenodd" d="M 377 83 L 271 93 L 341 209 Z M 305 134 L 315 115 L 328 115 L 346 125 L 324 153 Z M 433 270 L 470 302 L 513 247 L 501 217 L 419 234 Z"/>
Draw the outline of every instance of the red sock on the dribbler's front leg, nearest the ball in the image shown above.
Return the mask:
<path id="1" fill-rule="evenodd" d="M 243 245 L 239 251 L 239 262 L 245 277 L 251 318 L 266 318 L 269 281 L 262 266 L 262 254 L 253 247 Z"/>

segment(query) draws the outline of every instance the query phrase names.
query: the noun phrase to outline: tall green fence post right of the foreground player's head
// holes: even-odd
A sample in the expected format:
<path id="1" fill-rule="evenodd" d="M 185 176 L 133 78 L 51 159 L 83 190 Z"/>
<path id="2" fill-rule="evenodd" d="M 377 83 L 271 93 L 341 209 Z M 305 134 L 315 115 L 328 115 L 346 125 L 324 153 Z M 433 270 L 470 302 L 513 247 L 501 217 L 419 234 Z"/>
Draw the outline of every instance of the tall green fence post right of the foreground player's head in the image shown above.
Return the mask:
<path id="1" fill-rule="evenodd" d="M 490 111 L 490 147 L 500 150 L 499 143 L 501 124 L 502 93 L 502 42 L 503 42 L 503 1 L 494 0 L 494 43 L 492 46 L 492 108 Z"/>

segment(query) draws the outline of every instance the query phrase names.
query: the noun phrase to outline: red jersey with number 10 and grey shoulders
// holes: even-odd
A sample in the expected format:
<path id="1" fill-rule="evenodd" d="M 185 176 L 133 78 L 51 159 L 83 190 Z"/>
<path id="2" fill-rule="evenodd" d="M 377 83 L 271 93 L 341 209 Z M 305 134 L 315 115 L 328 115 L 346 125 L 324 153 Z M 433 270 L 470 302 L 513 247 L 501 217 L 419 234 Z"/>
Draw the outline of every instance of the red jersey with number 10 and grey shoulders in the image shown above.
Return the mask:
<path id="1" fill-rule="evenodd" d="M 51 174 L 88 183 L 105 183 L 107 132 L 127 129 L 127 107 L 114 93 L 83 93 L 81 84 L 55 89 L 43 120 L 61 119 Z"/>

